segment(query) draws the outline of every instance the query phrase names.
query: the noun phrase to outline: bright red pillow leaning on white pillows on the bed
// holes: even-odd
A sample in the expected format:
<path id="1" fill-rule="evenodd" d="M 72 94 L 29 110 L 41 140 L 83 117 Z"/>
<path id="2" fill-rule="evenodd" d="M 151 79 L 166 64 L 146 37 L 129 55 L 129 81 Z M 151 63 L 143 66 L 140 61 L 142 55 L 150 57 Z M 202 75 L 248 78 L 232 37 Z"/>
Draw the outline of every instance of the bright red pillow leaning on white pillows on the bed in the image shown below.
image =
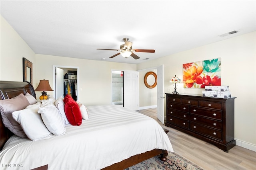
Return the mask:
<path id="1" fill-rule="evenodd" d="M 74 101 L 74 99 L 67 94 L 63 102 L 65 103 L 64 111 L 70 124 L 77 126 L 81 125 L 82 114 L 76 101 Z"/>

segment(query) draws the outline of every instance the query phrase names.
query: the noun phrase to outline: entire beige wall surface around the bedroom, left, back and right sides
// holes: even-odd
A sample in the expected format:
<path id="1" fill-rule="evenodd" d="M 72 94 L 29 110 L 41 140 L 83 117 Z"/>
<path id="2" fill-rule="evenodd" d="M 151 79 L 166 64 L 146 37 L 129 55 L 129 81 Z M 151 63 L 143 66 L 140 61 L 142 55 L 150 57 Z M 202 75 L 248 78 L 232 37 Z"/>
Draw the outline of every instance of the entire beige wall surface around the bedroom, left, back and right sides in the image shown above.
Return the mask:
<path id="1" fill-rule="evenodd" d="M 182 78 L 182 64 L 220 57 L 222 85 L 229 85 L 232 96 L 237 97 L 237 145 L 256 151 L 255 31 L 136 65 L 35 54 L 2 16 L 0 26 L 0 80 L 23 80 L 22 57 L 33 63 L 35 87 L 41 79 L 48 79 L 50 85 L 53 85 L 53 65 L 76 66 L 80 70 L 80 101 L 88 106 L 111 104 L 111 69 L 143 70 L 164 64 L 164 92 L 172 92 L 174 86 L 169 80 L 175 74 Z M 140 77 L 144 78 L 141 74 Z M 140 82 L 140 89 L 144 87 L 144 83 Z M 177 90 L 186 94 L 202 94 L 202 89 L 184 89 L 181 84 L 177 86 Z M 148 91 L 141 90 L 140 99 L 146 93 Z M 38 92 L 37 96 L 40 96 Z M 147 105 L 152 104 L 143 103 L 143 106 Z"/>

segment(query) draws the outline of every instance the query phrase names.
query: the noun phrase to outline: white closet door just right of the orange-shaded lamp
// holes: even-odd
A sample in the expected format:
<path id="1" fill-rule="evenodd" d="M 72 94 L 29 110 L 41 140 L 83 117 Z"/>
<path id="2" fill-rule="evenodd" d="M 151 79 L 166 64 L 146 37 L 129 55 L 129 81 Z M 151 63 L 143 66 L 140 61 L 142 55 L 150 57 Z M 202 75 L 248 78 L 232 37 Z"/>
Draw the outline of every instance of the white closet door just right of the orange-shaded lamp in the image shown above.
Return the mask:
<path id="1" fill-rule="evenodd" d="M 61 68 L 55 68 L 55 98 L 58 99 L 60 96 L 64 96 L 64 70 Z"/>

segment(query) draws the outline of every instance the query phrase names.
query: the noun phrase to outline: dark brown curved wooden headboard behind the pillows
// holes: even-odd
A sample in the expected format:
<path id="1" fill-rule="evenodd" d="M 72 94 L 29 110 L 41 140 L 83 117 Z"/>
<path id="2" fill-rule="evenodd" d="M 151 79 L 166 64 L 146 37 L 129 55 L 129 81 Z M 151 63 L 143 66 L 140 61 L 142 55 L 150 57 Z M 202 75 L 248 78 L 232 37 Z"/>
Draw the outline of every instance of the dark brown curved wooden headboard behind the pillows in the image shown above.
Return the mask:
<path id="1" fill-rule="evenodd" d="M 30 82 L 10 82 L 0 81 L 0 100 L 11 99 L 19 94 L 30 93 L 36 98 L 36 92 Z M 6 141 L 12 136 L 12 132 L 7 129 L 0 118 L 0 149 L 6 143 Z"/>

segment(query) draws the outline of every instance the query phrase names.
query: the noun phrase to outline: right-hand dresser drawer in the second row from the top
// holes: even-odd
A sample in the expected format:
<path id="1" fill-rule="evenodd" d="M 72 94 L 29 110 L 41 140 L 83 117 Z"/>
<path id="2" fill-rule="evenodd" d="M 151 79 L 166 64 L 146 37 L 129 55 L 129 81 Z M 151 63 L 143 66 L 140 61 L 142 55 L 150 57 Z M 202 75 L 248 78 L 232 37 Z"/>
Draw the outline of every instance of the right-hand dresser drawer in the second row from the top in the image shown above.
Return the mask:
<path id="1" fill-rule="evenodd" d="M 222 119 L 222 111 L 217 111 L 217 110 L 204 109 L 204 108 L 200 108 L 200 107 L 191 106 L 190 113 L 202 115 L 202 116 L 206 116 L 206 117 L 211 117 L 211 118 L 219 119 L 219 120 Z"/>

